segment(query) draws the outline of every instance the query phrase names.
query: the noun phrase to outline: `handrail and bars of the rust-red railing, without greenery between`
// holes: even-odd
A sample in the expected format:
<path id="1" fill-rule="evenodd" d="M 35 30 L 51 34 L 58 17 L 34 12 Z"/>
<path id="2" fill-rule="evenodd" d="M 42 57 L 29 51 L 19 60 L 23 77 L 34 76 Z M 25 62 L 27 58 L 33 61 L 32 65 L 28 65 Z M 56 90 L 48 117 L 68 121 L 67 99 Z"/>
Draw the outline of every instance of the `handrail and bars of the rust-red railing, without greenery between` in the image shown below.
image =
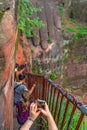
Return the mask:
<path id="1" fill-rule="evenodd" d="M 79 120 L 78 120 L 77 125 L 76 125 L 76 130 L 79 130 L 81 122 L 83 120 L 83 117 L 85 115 L 87 116 L 87 106 L 85 104 L 83 104 L 82 102 L 80 102 L 71 93 L 68 93 L 61 85 L 55 84 L 52 80 L 46 78 L 45 76 L 38 75 L 38 74 L 31 74 L 31 73 L 27 73 L 27 76 L 29 77 L 28 78 L 28 80 L 29 80 L 28 82 L 31 82 L 31 80 L 32 80 L 32 83 L 33 82 L 37 83 L 37 86 L 39 87 L 37 92 L 36 92 L 36 94 L 34 94 L 34 96 L 37 95 L 38 98 L 42 98 L 42 99 L 47 101 L 48 100 L 47 96 L 49 95 L 48 94 L 49 91 L 50 91 L 50 95 L 52 94 L 53 90 L 57 91 L 58 92 L 57 98 L 59 98 L 60 94 L 62 95 L 61 99 L 60 99 L 59 110 L 58 110 L 58 107 L 57 107 L 58 103 L 56 104 L 56 109 L 58 110 L 58 120 L 60 120 L 59 116 L 60 116 L 60 111 L 61 111 L 61 107 L 62 107 L 61 106 L 62 102 L 63 102 L 64 98 L 67 99 L 66 107 L 65 107 L 65 110 L 64 110 L 65 112 L 64 112 L 64 115 L 63 115 L 64 119 L 62 119 L 61 130 L 64 127 L 64 122 L 65 122 L 66 113 L 67 113 L 67 109 L 68 109 L 69 104 L 70 103 L 73 104 L 73 109 L 72 109 L 72 112 L 71 112 L 71 117 L 69 119 L 67 130 L 70 127 L 70 124 L 71 124 L 71 121 L 72 121 L 72 118 L 73 118 L 73 115 L 74 115 L 75 111 L 77 109 L 80 110 L 81 114 L 80 114 Z M 54 92 L 53 96 L 55 96 L 55 92 Z M 53 103 L 53 100 L 55 99 L 55 97 L 53 97 L 53 99 L 51 99 L 51 98 L 52 98 L 52 96 L 50 96 L 50 104 Z M 53 106 L 51 106 L 51 109 L 53 110 Z M 56 114 L 54 114 L 54 116 L 56 116 Z M 54 117 L 54 119 L 55 119 L 55 117 Z"/>

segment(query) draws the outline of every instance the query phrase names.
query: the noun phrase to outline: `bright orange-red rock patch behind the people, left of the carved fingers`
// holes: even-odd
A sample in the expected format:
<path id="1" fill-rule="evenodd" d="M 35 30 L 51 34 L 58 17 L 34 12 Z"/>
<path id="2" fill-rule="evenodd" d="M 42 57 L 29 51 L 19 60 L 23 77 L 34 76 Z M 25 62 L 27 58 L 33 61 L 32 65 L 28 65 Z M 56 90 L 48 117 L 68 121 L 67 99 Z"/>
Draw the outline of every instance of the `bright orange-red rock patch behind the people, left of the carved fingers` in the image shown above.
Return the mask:
<path id="1" fill-rule="evenodd" d="M 32 42 L 29 41 L 29 43 L 24 35 L 20 37 L 18 51 L 16 54 L 16 63 L 18 63 L 19 65 L 26 63 L 27 71 L 30 72 L 32 67 L 30 46 L 32 45 Z"/>

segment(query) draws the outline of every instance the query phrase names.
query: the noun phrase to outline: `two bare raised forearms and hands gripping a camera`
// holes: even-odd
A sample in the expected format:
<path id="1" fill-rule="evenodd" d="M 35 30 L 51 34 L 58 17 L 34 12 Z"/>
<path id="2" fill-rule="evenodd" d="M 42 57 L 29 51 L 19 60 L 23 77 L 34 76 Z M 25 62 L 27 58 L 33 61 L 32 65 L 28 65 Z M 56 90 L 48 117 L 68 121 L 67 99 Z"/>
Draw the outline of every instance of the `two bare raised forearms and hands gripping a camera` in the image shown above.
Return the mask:
<path id="1" fill-rule="evenodd" d="M 30 105 L 30 117 L 20 130 L 29 130 L 35 119 L 40 115 L 40 113 L 47 117 L 49 130 L 58 130 L 57 125 L 46 103 L 44 104 L 44 109 L 38 108 L 37 103 L 32 103 Z"/>

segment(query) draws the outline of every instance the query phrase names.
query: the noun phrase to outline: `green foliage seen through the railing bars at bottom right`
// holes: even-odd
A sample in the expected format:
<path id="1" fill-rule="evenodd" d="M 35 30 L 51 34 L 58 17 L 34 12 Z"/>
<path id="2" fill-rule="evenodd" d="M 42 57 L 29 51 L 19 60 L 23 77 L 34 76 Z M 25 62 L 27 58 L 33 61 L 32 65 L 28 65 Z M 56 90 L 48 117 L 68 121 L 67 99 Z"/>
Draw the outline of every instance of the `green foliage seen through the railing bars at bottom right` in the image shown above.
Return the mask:
<path id="1" fill-rule="evenodd" d="M 61 107 L 61 111 L 60 111 L 60 120 L 59 120 L 59 123 L 58 123 L 58 129 L 59 130 L 61 129 L 62 121 L 63 121 L 63 118 L 64 118 L 66 103 L 67 103 L 67 100 L 65 99 L 62 103 L 62 107 Z M 61 104 L 61 100 L 59 98 L 58 108 L 60 108 L 60 104 Z M 67 130 L 67 126 L 68 126 L 68 123 L 69 123 L 69 120 L 70 120 L 70 117 L 71 117 L 72 110 L 73 110 L 73 104 L 70 103 L 68 110 L 67 110 L 67 113 L 66 113 L 66 119 L 65 119 L 65 122 L 64 122 L 63 130 Z M 75 113 L 72 115 L 70 130 L 76 130 L 76 126 L 77 126 L 77 122 L 80 118 L 80 114 L 81 114 L 81 112 L 79 110 L 76 110 Z M 56 114 L 56 122 L 58 122 L 58 113 Z M 86 128 L 87 128 L 87 119 L 84 118 L 82 123 L 81 123 L 79 130 L 86 130 Z"/>

